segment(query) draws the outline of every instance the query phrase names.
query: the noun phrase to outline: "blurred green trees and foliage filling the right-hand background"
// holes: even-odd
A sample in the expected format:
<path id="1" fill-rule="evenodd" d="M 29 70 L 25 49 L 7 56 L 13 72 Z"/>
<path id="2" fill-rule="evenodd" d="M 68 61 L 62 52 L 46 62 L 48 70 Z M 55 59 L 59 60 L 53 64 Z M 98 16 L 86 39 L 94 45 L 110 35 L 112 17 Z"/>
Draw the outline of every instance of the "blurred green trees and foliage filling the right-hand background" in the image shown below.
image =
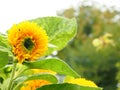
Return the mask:
<path id="1" fill-rule="evenodd" d="M 120 90 L 120 11 L 96 6 L 83 3 L 57 12 L 58 16 L 76 18 L 78 24 L 76 37 L 58 57 L 104 90 Z M 93 45 L 96 38 L 100 45 Z"/>

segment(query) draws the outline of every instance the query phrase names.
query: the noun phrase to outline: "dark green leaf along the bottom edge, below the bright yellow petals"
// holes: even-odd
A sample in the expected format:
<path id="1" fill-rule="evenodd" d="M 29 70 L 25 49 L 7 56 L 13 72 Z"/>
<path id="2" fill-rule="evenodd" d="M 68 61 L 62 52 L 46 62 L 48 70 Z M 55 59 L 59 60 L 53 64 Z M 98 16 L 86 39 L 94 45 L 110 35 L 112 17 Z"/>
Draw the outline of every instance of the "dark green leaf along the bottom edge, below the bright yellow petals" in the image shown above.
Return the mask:
<path id="1" fill-rule="evenodd" d="M 85 87 L 76 84 L 51 84 L 40 87 L 36 90 L 102 90 L 102 88 Z"/>

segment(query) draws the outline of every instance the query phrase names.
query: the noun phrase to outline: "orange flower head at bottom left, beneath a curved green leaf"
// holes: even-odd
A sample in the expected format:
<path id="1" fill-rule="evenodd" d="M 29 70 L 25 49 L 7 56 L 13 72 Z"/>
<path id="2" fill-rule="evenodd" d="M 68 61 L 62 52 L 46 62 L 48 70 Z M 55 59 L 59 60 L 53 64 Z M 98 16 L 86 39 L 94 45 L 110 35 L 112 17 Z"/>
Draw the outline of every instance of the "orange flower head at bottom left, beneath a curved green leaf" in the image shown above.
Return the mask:
<path id="1" fill-rule="evenodd" d="M 46 80 L 30 80 L 25 82 L 24 86 L 22 86 L 20 90 L 36 90 L 38 87 L 47 84 L 50 84 L 50 82 Z"/>

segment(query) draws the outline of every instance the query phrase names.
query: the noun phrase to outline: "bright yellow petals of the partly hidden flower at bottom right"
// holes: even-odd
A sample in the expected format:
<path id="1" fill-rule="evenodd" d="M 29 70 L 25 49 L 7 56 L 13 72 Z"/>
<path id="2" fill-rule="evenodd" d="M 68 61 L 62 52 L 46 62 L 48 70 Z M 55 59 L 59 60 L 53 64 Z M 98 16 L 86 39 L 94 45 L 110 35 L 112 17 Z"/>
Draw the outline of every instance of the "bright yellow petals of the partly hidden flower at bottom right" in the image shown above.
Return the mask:
<path id="1" fill-rule="evenodd" d="M 86 80 L 85 78 L 74 78 L 74 77 L 69 77 L 66 79 L 67 83 L 72 83 L 72 84 L 77 84 L 80 86 L 87 86 L 87 87 L 98 87 L 93 81 Z"/>

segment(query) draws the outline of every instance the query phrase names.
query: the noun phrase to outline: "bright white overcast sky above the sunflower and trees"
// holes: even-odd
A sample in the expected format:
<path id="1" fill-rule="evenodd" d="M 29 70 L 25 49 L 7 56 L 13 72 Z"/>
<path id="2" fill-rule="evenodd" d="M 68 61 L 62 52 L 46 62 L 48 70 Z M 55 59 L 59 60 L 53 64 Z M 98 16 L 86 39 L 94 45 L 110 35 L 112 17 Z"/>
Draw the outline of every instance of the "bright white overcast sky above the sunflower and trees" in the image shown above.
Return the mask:
<path id="1" fill-rule="evenodd" d="M 77 6 L 83 0 L 0 0 L 0 32 L 12 24 L 43 16 L 56 16 L 56 11 Z M 93 1 L 93 0 L 90 0 Z M 95 0 L 100 4 L 116 5 L 120 0 Z"/>

